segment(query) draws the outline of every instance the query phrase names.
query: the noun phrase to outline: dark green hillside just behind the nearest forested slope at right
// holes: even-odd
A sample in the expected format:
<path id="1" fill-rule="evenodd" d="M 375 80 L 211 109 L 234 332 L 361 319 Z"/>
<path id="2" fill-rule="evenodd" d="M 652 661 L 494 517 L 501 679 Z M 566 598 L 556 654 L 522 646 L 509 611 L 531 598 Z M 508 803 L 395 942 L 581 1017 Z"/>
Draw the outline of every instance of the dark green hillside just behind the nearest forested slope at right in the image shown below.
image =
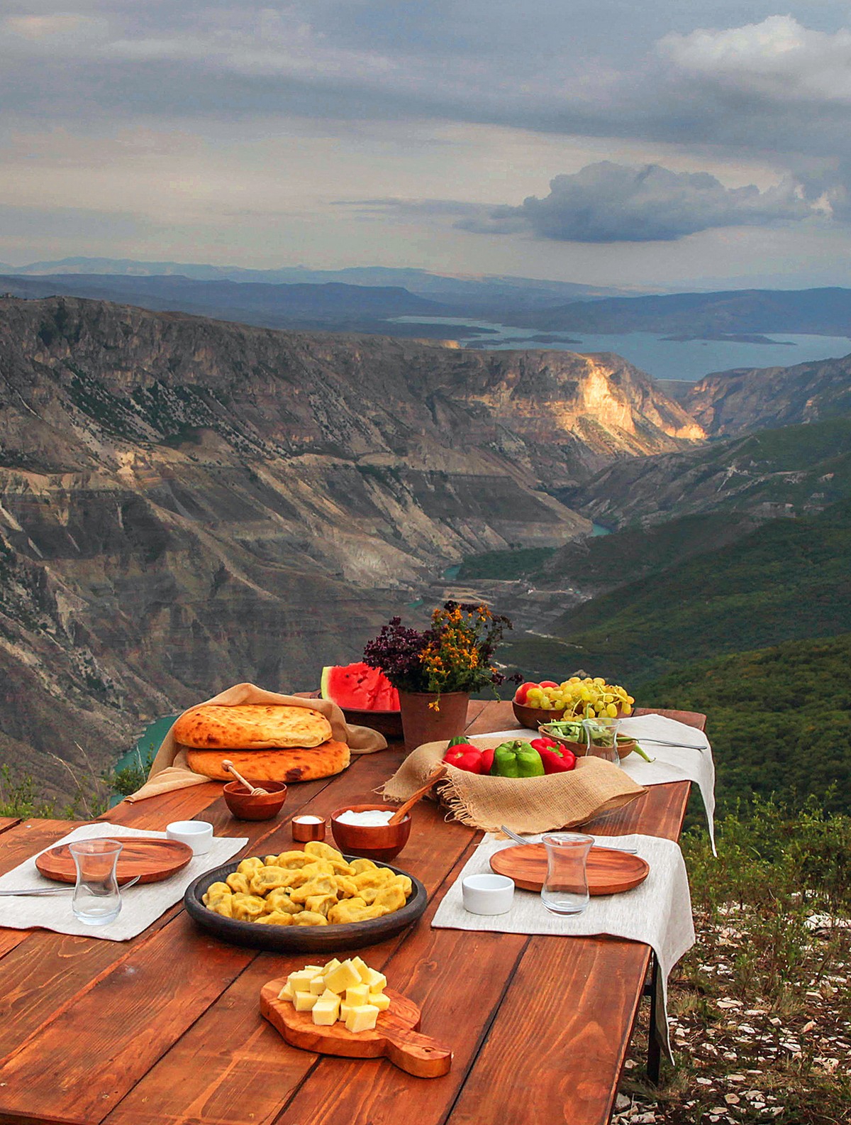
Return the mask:
<path id="1" fill-rule="evenodd" d="M 851 630 L 851 501 L 773 520 L 743 539 L 621 586 L 527 634 L 527 675 L 583 667 L 639 686 L 685 664 Z"/>

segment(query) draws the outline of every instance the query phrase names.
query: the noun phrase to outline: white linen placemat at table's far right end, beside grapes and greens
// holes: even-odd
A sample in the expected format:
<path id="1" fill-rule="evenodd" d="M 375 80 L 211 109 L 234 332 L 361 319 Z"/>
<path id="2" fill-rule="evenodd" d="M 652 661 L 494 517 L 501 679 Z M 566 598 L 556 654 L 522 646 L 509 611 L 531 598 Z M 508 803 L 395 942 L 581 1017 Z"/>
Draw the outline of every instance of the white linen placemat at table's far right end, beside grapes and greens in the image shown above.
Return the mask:
<path id="1" fill-rule="evenodd" d="M 677 722 L 663 714 L 639 714 L 622 719 L 618 734 L 630 735 L 639 740 L 641 748 L 653 762 L 645 762 L 637 754 L 625 757 L 621 767 L 639 785 L 663 785 L 671 781 L 691 781 L 700 790 L 706 810 L 706 822 L 709 829 L 713 855 L 715 850 L 715 763 L 712 746 L 706 735 L 696 727 Z M 490 738 L 532 738 L 532 731 L 524 728 L 497 730 Z M 691 750 L 681 746 L 660 746 L 651 741 L 661 738 L 666 742 L 690 742 L 701 746 L 701 750 Z M 646 745 L 642 739 L 646 739 Z M 513 826 L 509 825 L 509 828 Z"/>

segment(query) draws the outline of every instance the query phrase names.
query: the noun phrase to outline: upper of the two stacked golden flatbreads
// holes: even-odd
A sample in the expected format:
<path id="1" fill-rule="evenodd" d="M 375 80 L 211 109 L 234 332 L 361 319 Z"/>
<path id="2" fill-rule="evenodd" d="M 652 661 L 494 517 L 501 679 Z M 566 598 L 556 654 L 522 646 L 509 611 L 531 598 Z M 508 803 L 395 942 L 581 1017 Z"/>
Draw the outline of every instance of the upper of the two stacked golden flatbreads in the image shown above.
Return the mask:
<path id="1" fill-rule="evenodd" d="M 319 746 L 332 737 L 332 729 L 325 716 L 313 708 L 202 703 L 185 711 L 172 734 L 175 741 L 199 750 L 264 750 Z"/>

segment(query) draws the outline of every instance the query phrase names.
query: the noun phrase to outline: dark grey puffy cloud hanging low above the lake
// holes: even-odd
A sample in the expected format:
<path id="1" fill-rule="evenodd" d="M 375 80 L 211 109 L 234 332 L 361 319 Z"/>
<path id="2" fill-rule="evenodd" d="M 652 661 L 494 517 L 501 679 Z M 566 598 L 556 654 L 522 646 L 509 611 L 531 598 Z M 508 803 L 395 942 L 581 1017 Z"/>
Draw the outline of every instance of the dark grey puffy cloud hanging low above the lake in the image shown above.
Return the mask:
<path id="1" fill-rule="evenodd" d="M 708 172 L 601 161 L 550 181 L 550 195 L 461 219 L 478 234 L 529 232 L 556 242 L 673 242 L 698 231 L 794 222 L 814 214 L 791 181 L 760 191 L 726 188 Z"/>

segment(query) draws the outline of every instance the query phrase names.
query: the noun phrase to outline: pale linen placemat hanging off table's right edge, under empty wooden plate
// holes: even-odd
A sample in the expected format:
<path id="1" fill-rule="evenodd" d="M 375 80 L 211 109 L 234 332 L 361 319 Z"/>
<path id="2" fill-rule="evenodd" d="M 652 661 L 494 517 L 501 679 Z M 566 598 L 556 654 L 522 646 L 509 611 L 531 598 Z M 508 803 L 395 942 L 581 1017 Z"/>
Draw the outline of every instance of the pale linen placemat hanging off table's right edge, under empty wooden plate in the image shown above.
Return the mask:
<path id="1" fill-rule="evenodd" d="M 529 844 L 540 836 L 528 836 Z M 671 1058 L 668 1035 L 668 975 L 695 944 L 691 896 L 686 863 L 679 845 L 658 836 L 598 836 L 600 844 L 617 846 L 627 839 L 650 864 L 650 874 L 639 886 L 622 894 L 591 898 L 581 915 L 551 914 L 533 891 L 514 892 L 511 909 L 504 915 L 474 915 L 464 910 L 461 882 L 468 875 L 491 871 L 490 857 L 511 840 L 486 836 L 437 907 L 432 926 L 436 929 L 494 930 L 499 934 L 546 934 L 556 937 L 591 937 L 608 934 L 650 945 L 659 961 L 657 974 L 657 1029 Z"/>

